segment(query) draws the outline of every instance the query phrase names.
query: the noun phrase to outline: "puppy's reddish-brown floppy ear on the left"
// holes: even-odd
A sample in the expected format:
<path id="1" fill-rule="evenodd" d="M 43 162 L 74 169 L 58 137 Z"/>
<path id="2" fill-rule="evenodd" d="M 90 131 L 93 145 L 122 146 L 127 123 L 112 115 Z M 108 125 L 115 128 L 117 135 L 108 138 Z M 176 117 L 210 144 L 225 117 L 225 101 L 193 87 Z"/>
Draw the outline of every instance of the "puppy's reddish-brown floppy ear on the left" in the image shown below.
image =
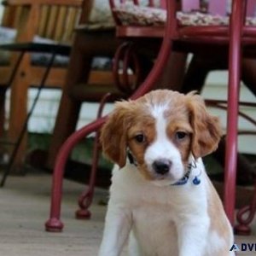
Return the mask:
<path id="1" fill-rule="evenodd" d="M 130 102 L 117 102 L 101 133 L 103 153 L 120 168 L 126 162 L 129 105 Z"/>

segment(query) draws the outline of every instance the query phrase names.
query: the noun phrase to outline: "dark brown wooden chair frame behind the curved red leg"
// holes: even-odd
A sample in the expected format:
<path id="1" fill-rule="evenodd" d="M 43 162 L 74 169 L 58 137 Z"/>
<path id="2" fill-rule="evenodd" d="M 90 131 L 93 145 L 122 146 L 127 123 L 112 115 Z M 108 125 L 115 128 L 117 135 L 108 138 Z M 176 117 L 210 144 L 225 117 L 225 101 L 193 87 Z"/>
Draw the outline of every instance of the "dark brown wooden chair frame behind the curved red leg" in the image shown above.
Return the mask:
<path id="1" fill-rule="evenodd" d="M 82 103 L 100 102 L 102 96 L 108 92 L 113 95 L 120 94 L 120 91 L 113 85 L 111 71 L 90 72 L 93 57 L 105 56 L 112 59 L 118 44 L 114 28 L 98 31 L 87 30 L 81 26 L 76 30 L 67 78 L 45 165 L 49 170 L 55 166 L 56 154 L 62 143 L 76 130 Z"/>

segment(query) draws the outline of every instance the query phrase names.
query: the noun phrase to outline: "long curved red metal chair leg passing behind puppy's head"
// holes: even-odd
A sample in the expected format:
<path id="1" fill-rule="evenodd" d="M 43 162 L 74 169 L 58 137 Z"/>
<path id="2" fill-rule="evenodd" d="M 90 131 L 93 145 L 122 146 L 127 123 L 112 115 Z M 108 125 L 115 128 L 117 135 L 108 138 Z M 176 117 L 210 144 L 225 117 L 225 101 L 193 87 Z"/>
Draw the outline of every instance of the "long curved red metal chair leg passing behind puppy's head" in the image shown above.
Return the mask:
<path id="1" fill-rule="evenodd" d="M 172 48 L 172 38 L 175 32 L 174 22 L 172 22 L 172 17 L 175 14 L 175 2 L 167 1 L 167 8 L 171 9 L 167 15 L 166 22 L 166 32 L 161 44 L 160 53 L 157 56 L 157 59 L 154 63 L 152 71 L 148 74 L 147 79 L 143 84 L 136 90 L 136 92 L 131 96 L 131 99 L 137 99 L 139 96 L 143 96 L 149 90 L 152 90 L 155 82 L 162 73 L 162 70 L 165 67 L 166 61 L 169 57 L 171 48 Z M 67 157 L 70 154 L 73 147 L 76 143 L 79 142 L 83 137 L 88 136 L 91 132 L 97 131 L 103 125 L 107 117 L 97 119 L 96 121 L 86 125 L 84 128 L 76 131 L 67 138 L 67 141 L 62 145 L 57 159 L 55 161 L 55 170 L 53 174 L 53 183 L 52 183 L 52 192 L 51 192 L 51 203 L 50 203 L 50 214 L 49 220 L 45 223 L 45 229 L 47 231 L 59 232 L 63 229 L 63 224 L 61 222 L 61 195 L 62 195 L 62 180 L 64 167 L 67 162 Z"/>

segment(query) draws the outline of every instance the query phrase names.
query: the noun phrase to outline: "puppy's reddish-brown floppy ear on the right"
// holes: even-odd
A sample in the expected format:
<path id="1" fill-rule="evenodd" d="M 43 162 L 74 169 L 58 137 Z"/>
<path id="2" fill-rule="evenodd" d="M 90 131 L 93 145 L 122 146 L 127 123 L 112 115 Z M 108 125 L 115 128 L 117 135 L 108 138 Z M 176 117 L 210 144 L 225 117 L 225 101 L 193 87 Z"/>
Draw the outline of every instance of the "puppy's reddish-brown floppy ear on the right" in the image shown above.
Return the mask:
<path id="1" fill-rule="evenodd" d="M 218 148 L 222 136 L 218 117 L 207 113 L 201 96 L 191 92 L 187 95 L 190 124 L 193 127 L 192 153 L 195 159 L 212 153 Z"/>

